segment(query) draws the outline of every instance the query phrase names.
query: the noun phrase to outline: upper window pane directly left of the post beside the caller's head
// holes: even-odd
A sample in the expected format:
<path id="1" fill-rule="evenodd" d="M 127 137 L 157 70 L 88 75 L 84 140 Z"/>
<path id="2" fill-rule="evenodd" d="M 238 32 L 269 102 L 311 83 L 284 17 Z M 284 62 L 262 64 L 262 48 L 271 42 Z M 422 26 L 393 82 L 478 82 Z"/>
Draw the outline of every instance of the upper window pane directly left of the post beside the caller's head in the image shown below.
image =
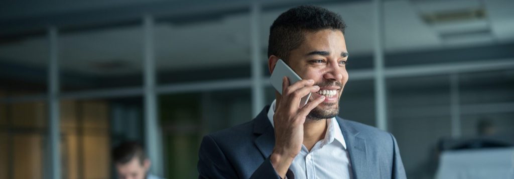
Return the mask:
<path id="1" fill-rule="evenodd" d="M 248 13 L 203 18 L 158 19 L 155 54 L 159 84 L 250 77 Z"/>

